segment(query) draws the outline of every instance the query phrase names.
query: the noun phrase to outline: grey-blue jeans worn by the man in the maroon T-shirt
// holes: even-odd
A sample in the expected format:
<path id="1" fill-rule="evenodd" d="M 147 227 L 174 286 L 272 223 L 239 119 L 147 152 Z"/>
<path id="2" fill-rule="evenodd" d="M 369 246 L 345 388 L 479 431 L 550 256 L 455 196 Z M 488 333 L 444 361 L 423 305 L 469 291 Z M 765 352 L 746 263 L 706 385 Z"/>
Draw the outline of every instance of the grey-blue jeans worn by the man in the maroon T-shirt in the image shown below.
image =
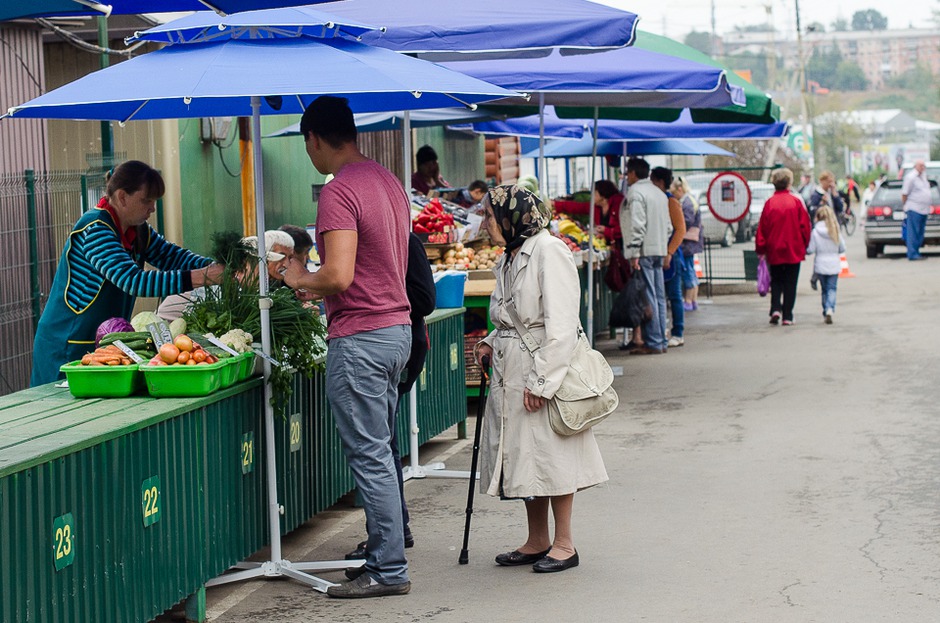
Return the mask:
<path id="1" fill-rule="evenodd" d="M 326 395 L 366 513 L 366 572 L 382 584 L 408 581 L 401 494 L 391 437 L 398 380 L 411 351 L 411 327 L 333 338 Z"/>

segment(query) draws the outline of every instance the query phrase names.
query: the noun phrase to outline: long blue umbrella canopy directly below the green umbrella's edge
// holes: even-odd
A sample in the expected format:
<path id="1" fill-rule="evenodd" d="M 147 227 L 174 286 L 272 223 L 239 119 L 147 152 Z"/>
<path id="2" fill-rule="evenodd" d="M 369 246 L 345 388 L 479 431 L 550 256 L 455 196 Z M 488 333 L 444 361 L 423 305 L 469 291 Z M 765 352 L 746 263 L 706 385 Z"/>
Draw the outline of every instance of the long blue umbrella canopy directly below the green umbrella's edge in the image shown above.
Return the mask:
<path id="1" fill-rule="evenodd" d="M 545 108 L 545 136 L 581 138 L 594 125 L 593 119 L 561 119 L 553 107 Z M 539 136 L 538 115 L 451 125 L 453 130 L 470 130 L 493 136 Z M 598 139 L 649 140 L 659 138 L 694 138 L 711 140 L 781 138 L 787 134 L 785 122 L 776 123 L 695 123 L 688 110 L 679 119 L 661 121 L 620 121 L 599 119 Z"/>

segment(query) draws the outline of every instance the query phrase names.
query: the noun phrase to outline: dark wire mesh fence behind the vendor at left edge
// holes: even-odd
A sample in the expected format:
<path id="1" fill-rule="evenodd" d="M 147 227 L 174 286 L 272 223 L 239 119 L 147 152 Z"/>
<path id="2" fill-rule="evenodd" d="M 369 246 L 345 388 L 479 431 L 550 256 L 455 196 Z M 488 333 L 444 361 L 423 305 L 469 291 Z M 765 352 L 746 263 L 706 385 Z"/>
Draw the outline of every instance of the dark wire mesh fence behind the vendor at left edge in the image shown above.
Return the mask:
<path id="1" fill-rule="evenodd" d="M 59 256 L 103 191 L 100 173 L 0 175 L 0 396 L 29 386 L 33 337 Z"/>

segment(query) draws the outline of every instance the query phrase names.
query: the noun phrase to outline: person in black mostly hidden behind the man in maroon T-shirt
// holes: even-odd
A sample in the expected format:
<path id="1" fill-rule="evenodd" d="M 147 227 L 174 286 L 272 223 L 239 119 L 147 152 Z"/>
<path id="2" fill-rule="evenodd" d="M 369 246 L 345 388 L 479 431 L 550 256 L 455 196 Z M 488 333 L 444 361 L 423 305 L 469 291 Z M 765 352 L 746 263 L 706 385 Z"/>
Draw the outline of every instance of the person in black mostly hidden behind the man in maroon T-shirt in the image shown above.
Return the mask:
<path id="1" fill-rule="evenodd" d="M 413 232 L 408 237 L 408 271 L 405 273 L 405 291 L 408 302 L 411 304 L 411 353 L 401 382 L 398 383 L 398 395 L 404 396 L 414 387 L 415 381 L 424 369 L 424 360 L 428 356 L 430 343 L 427 326 L 424 324 L 425 316 L 434 311 L 437 301 L 437 289 L 434 287 L 434 275 L 431 274 L 431 263 L 424 251 L 421 239 Z M 399 403 L 400 404 L 400 403 Z M 396 415 L 397 421 L 397 415 Z M 408 525 L 408 504 L 405 502 L 405 480 L 402 476 L 401 452 L 398 450 L 398 427 L 392 430 L 392 457 L 395 459 L 395 471 L 398 473 L 398 490 L 401 493 L 402 525 L 405 527 L 405 547 L 414 547 L 415 540 Z M 366 557 L 366 544 L 362 541 L 356 549 L 346 554 L 347 560 Z M 355 569 L 351 571 L 356 571 Z"/>

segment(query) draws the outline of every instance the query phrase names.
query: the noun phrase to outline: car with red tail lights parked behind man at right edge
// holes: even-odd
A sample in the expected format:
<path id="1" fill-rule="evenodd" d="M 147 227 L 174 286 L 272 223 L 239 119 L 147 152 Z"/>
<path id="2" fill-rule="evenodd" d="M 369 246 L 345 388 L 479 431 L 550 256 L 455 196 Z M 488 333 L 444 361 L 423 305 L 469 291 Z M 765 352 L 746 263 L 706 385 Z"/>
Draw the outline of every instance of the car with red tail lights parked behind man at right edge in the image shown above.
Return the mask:
<path id="1" fill-rule="evenodd" d="M 865 247 L 868 257 L 884 253 L 885 245 L 904 246 L 901 223 L 907 215 L 901 206 L 901 180 L 888 180 L 878 187 L 865 217 Z M 940 244 L 940 187 L 930 180 L 931 208 L 924 231 L 925 245 Z"/>

